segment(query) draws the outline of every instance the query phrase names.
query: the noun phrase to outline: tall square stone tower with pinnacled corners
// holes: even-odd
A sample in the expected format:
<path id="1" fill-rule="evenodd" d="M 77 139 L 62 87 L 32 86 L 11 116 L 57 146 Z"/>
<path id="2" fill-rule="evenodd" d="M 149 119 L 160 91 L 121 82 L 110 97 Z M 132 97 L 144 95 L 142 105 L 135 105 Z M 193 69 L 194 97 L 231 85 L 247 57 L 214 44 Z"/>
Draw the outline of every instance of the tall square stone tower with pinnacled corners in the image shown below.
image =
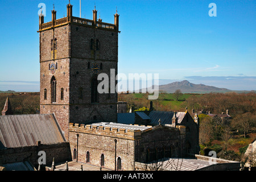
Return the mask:
<path id="1" fill-rule="evenodd" d="M 70 3 L 64 18 L 39 15 L 40 113 L 54 113 L 67 140 L 69 123 L 117 122 L 117 92 L 98 93 L 97 76 L 117 75 L 118 19 L 97 20 L 95 7 L 93 20 L 77 18 Z"/>

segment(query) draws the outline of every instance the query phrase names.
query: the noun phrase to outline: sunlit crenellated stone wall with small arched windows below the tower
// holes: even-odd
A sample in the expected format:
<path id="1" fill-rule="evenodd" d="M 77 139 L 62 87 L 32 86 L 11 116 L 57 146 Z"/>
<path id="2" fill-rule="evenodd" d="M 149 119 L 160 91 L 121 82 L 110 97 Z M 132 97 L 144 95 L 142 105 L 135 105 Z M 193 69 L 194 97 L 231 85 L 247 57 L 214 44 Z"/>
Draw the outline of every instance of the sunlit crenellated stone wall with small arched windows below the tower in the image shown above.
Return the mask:
<path id="1" fill-rule="evenodd" d="M 78 134 L 78 136 L 77 136 Z M 121 158 L 122 170 L 133 170 L 134 142 L 139 138 L 140 131 L 127 131 L 110 127 L 79 125 L 69 126 L 69 140 L 72 157 L 77 151 L 77 161 L 86 163 L 86 153 L 89 152 L 89 163 L 101 166 L 101 155 L 105 158 L 105 168 L 115 169 L 115 162 Z M 115 139 L 117 140 L 115 147 Z M 78 141 L 78 142 L 77 142 Z M 117 164 L 116 164 L 117 165 Z"/>

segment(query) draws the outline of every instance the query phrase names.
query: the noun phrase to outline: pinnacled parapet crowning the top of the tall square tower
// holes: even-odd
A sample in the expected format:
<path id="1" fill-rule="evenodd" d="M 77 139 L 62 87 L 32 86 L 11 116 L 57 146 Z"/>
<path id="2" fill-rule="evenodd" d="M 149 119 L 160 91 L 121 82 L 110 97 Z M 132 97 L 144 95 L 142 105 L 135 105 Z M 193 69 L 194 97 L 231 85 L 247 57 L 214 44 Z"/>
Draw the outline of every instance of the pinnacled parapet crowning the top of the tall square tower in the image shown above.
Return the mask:
<path id="1" fill-rule="evenodd" d="M 63 26 L 65 24 L 76 24 L 79 26 L 85 27 L 92 27 L 98 28 L 102 30 L 109 30 L 109 31 L 118 31 L 118 22 L 119 22 L 119 15 L 117 13 L 114 14 L 114 24 L 111 23 L 104 23 L 102 19 L 97 19 L 97 10 L 93 10 L 93 20 L 85 19 L 85 18 L 78 18 L 72 16 L 72 5 L 67 5 L 67 16 L 64 18 L 56 19 L 56 11 L 52 10 L 52 21 L 44 23 L 44 16 L 43 14 L 39 15 L 39 31 L 48 30 L 54 27 Z"/>

